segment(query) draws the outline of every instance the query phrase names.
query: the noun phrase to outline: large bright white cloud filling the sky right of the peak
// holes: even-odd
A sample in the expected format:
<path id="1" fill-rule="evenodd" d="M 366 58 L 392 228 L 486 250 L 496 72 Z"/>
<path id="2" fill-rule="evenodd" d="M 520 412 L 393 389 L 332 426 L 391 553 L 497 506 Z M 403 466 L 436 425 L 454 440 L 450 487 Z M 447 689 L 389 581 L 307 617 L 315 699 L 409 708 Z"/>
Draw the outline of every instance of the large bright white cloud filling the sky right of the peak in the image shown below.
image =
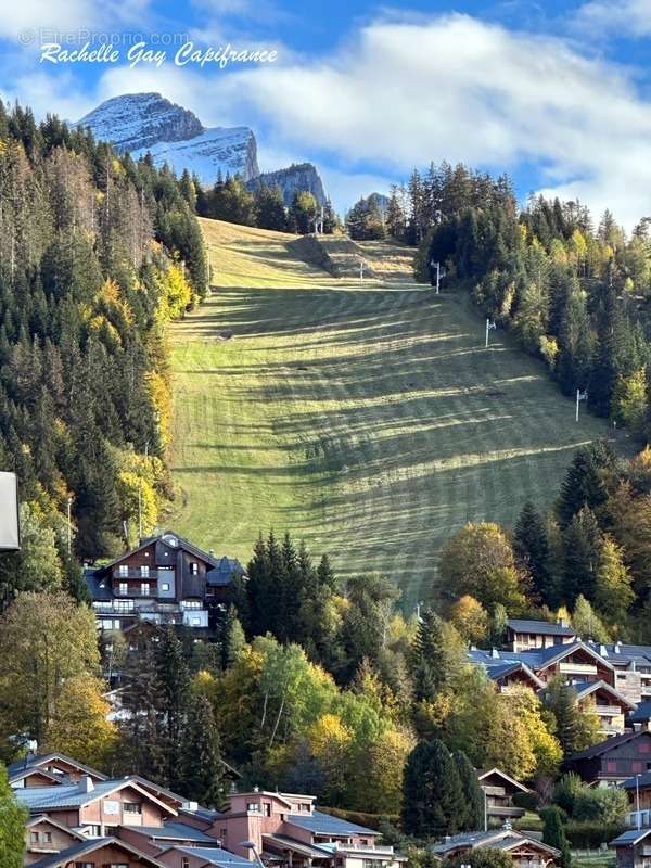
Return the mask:
<path id="1" fill-rule="evenodd" d="M 336 55 L 217 79 L 212 98 L 275 141 L 381 175 L 431 159 L 515 170 L 630 225 L 651 212 L 651 104 L 625 72 L 551 37 L 462 16 L 379 22 Z M 572 179 L 572 184 L 567 180 Z"/>

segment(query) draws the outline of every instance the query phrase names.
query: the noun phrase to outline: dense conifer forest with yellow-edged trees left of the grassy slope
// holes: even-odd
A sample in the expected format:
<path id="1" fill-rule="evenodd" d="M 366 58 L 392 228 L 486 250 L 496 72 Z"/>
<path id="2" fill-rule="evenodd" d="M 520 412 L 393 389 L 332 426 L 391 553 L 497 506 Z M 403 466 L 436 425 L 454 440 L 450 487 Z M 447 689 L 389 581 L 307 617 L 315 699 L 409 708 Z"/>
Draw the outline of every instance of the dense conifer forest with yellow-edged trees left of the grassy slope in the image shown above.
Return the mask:
<path id="1" fill-rule="evenodd" d="M 133 541 L 139 497 L 152 524 L 169 487 L 165 324 L 205 295 L 206 256 L 171 173 L 17 105 L 0 107 L 0 465 L 23 527 L 1 597 L 80 597 L 75 564 Z"/>

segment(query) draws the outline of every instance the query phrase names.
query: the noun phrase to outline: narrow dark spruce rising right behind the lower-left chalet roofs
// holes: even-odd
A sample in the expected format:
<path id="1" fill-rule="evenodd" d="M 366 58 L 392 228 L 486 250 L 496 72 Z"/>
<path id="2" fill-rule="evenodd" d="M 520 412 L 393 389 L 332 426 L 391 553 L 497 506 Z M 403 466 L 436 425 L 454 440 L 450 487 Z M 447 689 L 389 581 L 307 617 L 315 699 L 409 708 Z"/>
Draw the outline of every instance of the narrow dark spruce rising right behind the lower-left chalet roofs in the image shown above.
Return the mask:
<path id="1" fill-rule="evenodd" d="M 220 809 L 224 805 L 226 783 L 219 731 L 213 707 L 201 693 L 190 699 L 181 789 L 206 807 Z"/>

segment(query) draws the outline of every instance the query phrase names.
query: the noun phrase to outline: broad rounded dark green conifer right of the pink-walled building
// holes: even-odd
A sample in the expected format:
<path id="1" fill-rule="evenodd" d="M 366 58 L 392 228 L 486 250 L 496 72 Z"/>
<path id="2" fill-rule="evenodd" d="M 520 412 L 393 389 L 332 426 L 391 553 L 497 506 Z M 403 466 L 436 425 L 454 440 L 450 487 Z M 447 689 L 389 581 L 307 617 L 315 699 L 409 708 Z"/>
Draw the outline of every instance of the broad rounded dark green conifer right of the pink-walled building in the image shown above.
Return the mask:
<path id="1" fill-rule="evenodd" d="M 421 741 L 403 781 L 403 831 L 416 838 L 455 834 L 465 815 L 457 765 L 442 741 Z"/>

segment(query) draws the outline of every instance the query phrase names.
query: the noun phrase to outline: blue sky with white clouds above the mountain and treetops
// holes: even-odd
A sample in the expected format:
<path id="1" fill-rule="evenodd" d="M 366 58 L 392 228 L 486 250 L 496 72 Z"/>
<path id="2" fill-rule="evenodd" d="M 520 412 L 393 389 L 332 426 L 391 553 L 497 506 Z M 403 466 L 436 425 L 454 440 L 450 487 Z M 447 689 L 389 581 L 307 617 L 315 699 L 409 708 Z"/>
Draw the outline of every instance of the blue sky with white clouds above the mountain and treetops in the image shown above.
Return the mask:
<path id="1" fill-rule="evenodd" d="M 118 60 L 41 60 L 43 41 L 87 34 Z M 278 60 L 178 66 L 171 46 L 131 68 L 137 34 L 154 51 L 189 39 Z M 650 40 L 650 0 L 24 0 L 3 9 L 0 91 L 69 119 L 159 91 L 207 126 L 251 126 L 263 169 L 312 161 L 342 210 L 447 158 L 631 227 L 651 215 Z"/>

